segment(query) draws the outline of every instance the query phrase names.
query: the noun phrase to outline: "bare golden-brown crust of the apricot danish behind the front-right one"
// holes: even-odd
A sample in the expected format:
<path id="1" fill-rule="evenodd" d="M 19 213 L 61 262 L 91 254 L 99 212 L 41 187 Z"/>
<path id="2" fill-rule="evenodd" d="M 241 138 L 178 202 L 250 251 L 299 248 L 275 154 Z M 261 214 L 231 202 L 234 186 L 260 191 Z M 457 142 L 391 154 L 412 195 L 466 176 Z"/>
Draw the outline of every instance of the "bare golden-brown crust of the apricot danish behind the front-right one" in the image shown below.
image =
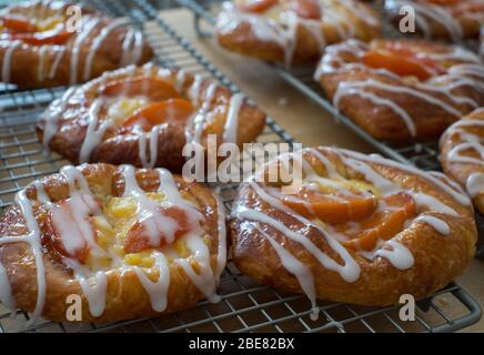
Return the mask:
<path id="1" fill-rule="evenodd" d="M 375 41 L 374 43 L 377 42 L 379 41 Z M 381 42 L 384 42 L 384 40 L 381 40 Z M 425 41 L 400 40 L 400 42 L 405 43 L 405 45 L 411 48 L 415 48 L 417 52 L 447 53 L 450 50 L 450 48 L 445 45 L 428 43 Z M 362 47 L 361 50 L 364 52 L 367 48 Z M 316 72 L 315 79 L 320 82 L 331 101 L 335 99 L 335 93 L 342 82 L 375 80 L 377 82 L 401 87 L 404 90 L 411 89 L 416 92 L 428 94 L 430 97 L 433 97 L 464 113 L 473 110 L 473 106 L 468 103 L 453 102 L 443 92 L 425 90 L 417 87 L 421 82 L 416 78 L 382 74 L 379 73 L 377 70 L 366 65 L 355 65 L 346 69 L 344 65 L 340 67 L 340 64 L 337 64 L 339 62 L 344 62 L 345 64 L 360 64 L 360 59 L 355 53 L 346 51 L 344 48 L 340 47 L 340 44 L 334 44 L 326 49 L 325 54 L 321 59 L 320 68 L 323 65 L 334 65 L 334 70 L 323 72 L 322 74 Z M 453 64 L 458 63 L 460 62 L 456 60 L 453 62 Z M 462 77 L 462 79 L 464 77 Z M 445 85 L 446 83 L 450 84 L 457 80 L 458 79 L 455 78 L 445 78 L 440 81 L 436 87 Z M 405 92 L 391 92 L 379 88 L 366 88 L 365 91 L 397 104 L 412 118 L 415 125 L 416 134 L 415 136 L 412 136 L 405 122 L 391 106 L 375 104 L 371 100 L 359 94 L 347 94 L 342 97 L 339 102 L 340 111 L 379 140 L 404 143 L 409 141 L 436 139 L 448 125 L 458 119 L 456 115 L 450 114 L 442 106 L 435 105 L 417 95 Z M 470 85 L 457 85 L 452 90 L 451 94 L 470 98 L 481 105 L 484 104 L 484 95 L 482 92 Z"/>

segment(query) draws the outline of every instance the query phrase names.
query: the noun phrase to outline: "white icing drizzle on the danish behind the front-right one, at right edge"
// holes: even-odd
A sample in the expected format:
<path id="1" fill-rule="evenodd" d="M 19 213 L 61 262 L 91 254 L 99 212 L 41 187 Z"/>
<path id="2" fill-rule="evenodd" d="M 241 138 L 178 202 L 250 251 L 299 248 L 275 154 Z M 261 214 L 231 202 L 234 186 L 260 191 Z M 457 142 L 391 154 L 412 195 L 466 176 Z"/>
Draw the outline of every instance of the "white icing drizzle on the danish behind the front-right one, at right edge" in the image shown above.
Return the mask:
<path id="1" fill-rule="evenodd" d="M 341 71 L 366 70 L 379 77 L 383 75 L 392 80 L 401 81 L 401 77 L 389 70 L 370 68 L 361 62 L 344 62 L 339 55 L 334 55 L 339 52 L 347 52 L 359 58 L 362 57 L 366 50 L 369 50 L 367 44 L 357 40 L 350 40 L 329 47 L 326 55 L 323 55 L 315 71 L 314 79 L 317 81 L 324 74 L 333 74 Z M 461 87 L 468 87 L 476 91 L 476 93 L 484 93 L 484 69 L 482 65 L 475 63 L 477 59 L 474 54 L 466 50 L 458 50 L 456 47 L 453 47 L 448 53 L 430 53 L 425 55 L 428 58 L 448 57 L 462 61 L 467 60 L 471 61 L 471 63 L 455 64 L 448 69 L 446 74 L 433 77 L 425 82 L 416 82 L 413 84 L 393 84 L 383 82 L 379 77 L 363 81 L 341 81 L 333 98 L 334 105 L 339 108 L 341 100 L 347 95 L 359 95 L 371 101 L 375 105 L 387 106 L 405 123 L 405 126 L 412 136 L 416 136 L 416 126 L 409 112 L 406 112 L 395 101 L 389 98 L 382 98 L 381 95 L 369 91 L 369 89 L 409 94 L 440 108 L 455 118 L 461 118 L 464 110 L 468 110 L 468 108 L 462 108 L 461 105 L 468 105 L 471 109 L 481 105 L 481 102 L 470 98 L 467 92 L 464 95 L 463 92 L 454 91 Z M 445 95 L 451 104 L 444 101 L 443 98 L 438 98 L 437 94 Z"/>

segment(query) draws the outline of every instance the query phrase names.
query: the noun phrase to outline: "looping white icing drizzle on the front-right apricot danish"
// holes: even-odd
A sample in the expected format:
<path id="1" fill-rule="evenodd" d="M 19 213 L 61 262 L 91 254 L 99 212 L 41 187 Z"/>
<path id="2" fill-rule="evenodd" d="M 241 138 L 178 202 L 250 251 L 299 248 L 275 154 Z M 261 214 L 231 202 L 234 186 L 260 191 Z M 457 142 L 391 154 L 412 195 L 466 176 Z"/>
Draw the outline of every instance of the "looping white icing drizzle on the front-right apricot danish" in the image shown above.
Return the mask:
<path id="1" fill-rule="evenodd" d="M 342 178 L 336 172 L 334 164 L 316 149 L 306 149 L 304 151 L 321 161 L 321 163 L 325 166 L 325 170 L 330 178 L 334 178 L 336 180 Z M 425 194 L 422 191 L 404 189 L 395 182 L 387 180 L 366 162 L 372 162 L 386 166 L 394 166 L 411 174 L 419 175 L 448 193 L 453 199 L 455 199 L 456 202 L 464 205 L 470 204 L 470 201 L 463 194 L 463 191 L 458 189 L 455 183 L 451 183 L 451 181 L 443 179 L 441 174 L 427 174 L 421 172 L 417 169 L 404 166 L 400 163 L 385 160 L 375 155 L 366 156 L 360 153 L 336 149 L 332 149 L 331 151 L 335 153 L 346 166 L 361 173 L 366 181 L 372 183 L 380 191 L 382 196 L 390 196 L 401 191 L 405 191 L 412 196 L 416 204 L 417 211 L 421 212 L 419 212 L 420 214 L 413 220 L 409 220 L 407 223 L 405 223 L 405 227 L 413 223 L 426 223 L 432 226 L 437 233 L 445 236 L 451 233 L 451 226 L 447 222 L 441 219 L 440 215 L 446 214 L 455 216 L 458 214 L 454 209 L 444 204 L 442 201 L 437 200 L 432 195 Z M 295 156 L 298 155 L 294 155 L 294 158 Z M 303 166 L 305 179 L 307 181 L 317 181 L 317 174 L 314 172 L 311 165 L 305 163 L 306 159 L 307 158 L 303 158 L 299 161 L 300 164 Z M 321 183 L 324 183 L 326 180 L 327 179 L 325 179 Z M 302 264 L 295 257 L 295 255 L 292 255 L 290 251 L 284 247 L 284 244 L 280 244 L 275 240 L 273 233 L 269 232 L 268 230 L 263 230 L 262 225 L 276 230 L 278 232 L 282 233 L 284 237 L 290 239 L 295 243 L 302 245 L 311 255 L 313 255 L 319 261 L 319 263 L 323 267 L 337 272 L 341 277 L 346 282 L 355 282 L 359 280 L 361 273 L 360 265 L 353 258 L 354 256 L 352 256 L 352 254 L 350 254 L 346 248 L 341 244 L 342 242 L 347 241 L 347 236 L 340 234 L 331 225 L 324 224 L 322 226 L 291 210 L 281 201 L 281 194 L 278 193 L 278 190 L 275 187 L 264 187 L 255 183 L 253 178 L 249 179 L 245 183 L 253 190 L 255 194 L 260 196 L 260 199 L 262 199 L 262 201 L 264 201 L 264 203 L 268 203 L 276 211 L 282 211 L 289 214 L 291 217 L 294 217 L 302 223 L 301 230 L 294 231 L 291 229 L 290 225 L 285 225 L 282 221 L 274 219 L 273 216 L 262 211 L 259 211 L 255 207 L 246 207 L 242 204 L 236 204 L 233 206 L 233 217 L 251 221 L 253 227 L 269 241 L 271 246 L 276 252 L 279 258 L 281 260 L 282 265 L 288 270 L 288 272 L 290 272 L 298 278 L 301 288 L 312 302 L 313 311 L 316 310 L 314 275 L 304 264 Z M 336 187 L 337 185 L 332 184 L 332 186 Z M 344 192 L 345 190 L 340 187 L 340 191 Z M 284 195 L 284 197 L 288 196 Z M 385 211 L 386 209 L 389 209 L 389 206 L 385 205 L 383 202 L 380 202 L 377 211 Z M 431 213 L 438 213 L 438 215 L 432 215 Z M 359 224 L 354 224 L 355 231 L 357 231 Z M 309 229 L 315 229 L 321 232 L 321 236 L 324 237 L 324 240 L 327 242 L 327 245 L 341 256 L 341 258 L 343 260 L 343 264 L 336 263 L 327 254 L 323 253 L 315 244 L 311 242 L 311 240 L 305 235 Z M 413 266 L 415 261 L 410 250 L 403 244 L 402 241 L 400 241 L 400 235 L 401 234 L 396 234 L 387 241 L 380 240 L 375 248 L 371 252 L 356 251 L 355 254 L 359 254 L 371 261 L 375 257 L 384 257 L 394 267 L 402 271 L 407 270 Z"/>

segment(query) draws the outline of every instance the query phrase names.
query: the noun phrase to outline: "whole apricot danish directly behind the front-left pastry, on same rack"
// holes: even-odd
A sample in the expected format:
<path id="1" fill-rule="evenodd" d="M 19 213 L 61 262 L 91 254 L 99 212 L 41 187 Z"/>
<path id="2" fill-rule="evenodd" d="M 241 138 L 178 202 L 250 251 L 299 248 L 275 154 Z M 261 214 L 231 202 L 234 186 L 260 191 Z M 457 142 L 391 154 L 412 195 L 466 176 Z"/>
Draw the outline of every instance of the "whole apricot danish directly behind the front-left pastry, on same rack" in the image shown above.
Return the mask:
<path id="1" fill-rule="evenodd" d="M 239 94 L 183 70 L 128 67 L 69 90 L 39 120 L 46 149 L 74 164 L 104 162 L 181 171 L 186 143 L 242 145 L 265 114 Z"/>

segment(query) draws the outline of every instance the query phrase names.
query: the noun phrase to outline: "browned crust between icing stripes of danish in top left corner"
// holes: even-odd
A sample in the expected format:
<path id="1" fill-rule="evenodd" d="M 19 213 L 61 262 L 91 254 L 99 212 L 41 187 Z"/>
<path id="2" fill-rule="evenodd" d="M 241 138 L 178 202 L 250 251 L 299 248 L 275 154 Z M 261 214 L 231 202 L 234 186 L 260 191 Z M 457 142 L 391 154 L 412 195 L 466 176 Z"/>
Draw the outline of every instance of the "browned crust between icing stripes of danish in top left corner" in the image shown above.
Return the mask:
<path id="1" fill-rule="evenodd" d="M 53 8 L 54 2 L 34 1 L 27 4 L 18 4 L 7 8 L 2 14 L 28 14 L 42 19 L 57 13 L 65 13 L 70 3 L 64 3 L 61 8 Z M 57 2 L 58 4 L 58 2 Z M 113 19 L 101 16 L 82 8 L 83 21 L 87 23 L 90 19 L 98 18 L 100 21 L 94 27 L 92 32 L 79 47 L 79 62 L 75 65 L 77 80 L 75 83 L 83 82 L 84 67 L 87 65 L 88 54 L 91 50 L 93 41 L 101 34 Z M 92 60 L 91 73 L 89 79 L 98 78 L 103 72 L 123 67 L 123 41 L 128 33 L 129 27 L 122 26 L 113 29 L 102 41 L 102 45 L 98 48 Z M 11 64 L 9 73 L 9 82 L 22 89 L 51 88 L 71 84 L 71 59 L 75 40 L 82 36 L 73 33 L 65 44 L 44 44 L 42 47 L 32 45 L 22 42 L 11 52 Z M 0 42 L 0 68 L 3 68 L 6 53 L 11 49 L 13 41 Z M 43 54 L 39 51 L 42 48 Z M 59 51 L 63 54 L 58 59 Z M 148 62 L 153 57 L 153 51 L 143 40 L 141 43 L 141 54 L 139 64 Z M 50 75 L 51 70 L 53 75 Z M 42 74 L 40 74 L 42 72 Z"/>

